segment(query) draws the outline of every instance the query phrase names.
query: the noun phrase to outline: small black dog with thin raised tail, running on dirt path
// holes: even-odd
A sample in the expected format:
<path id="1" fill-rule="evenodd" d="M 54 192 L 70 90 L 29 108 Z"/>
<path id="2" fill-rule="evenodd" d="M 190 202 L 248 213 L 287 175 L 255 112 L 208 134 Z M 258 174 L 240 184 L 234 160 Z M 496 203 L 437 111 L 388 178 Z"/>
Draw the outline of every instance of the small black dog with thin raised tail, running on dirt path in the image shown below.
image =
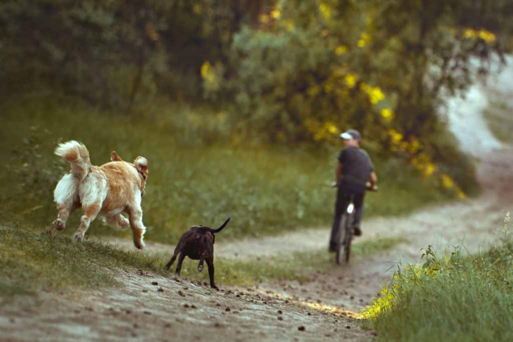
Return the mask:
<path id="1" fill-rule="evenodd" d="M 203 260 L 205 260 L 207 261 L 208 266 L 210 287 L 217 289 L 218 287 L 214 284 L 214 234 L 219 233 L 228 224 L 230 218 L 231 217 L 228 217 L 225 223 L 218 229 L 212 229 L 204 226 L 192 226 L 180 237 L 180 240 L 174 249 L 173 256 L 166 265 L 166 269 L 169 270 L 178 253 L 180 253 L 180 256 L 178 257 L 178 264 L 176 265 L 176 271 L 174 272 L 176 276 L 180 276 L 182 262 L 186 256 L 193 260 L 200 260 L 200 264 L 198 265 L 198 271 L 200 272 L 203 271 Z"/>

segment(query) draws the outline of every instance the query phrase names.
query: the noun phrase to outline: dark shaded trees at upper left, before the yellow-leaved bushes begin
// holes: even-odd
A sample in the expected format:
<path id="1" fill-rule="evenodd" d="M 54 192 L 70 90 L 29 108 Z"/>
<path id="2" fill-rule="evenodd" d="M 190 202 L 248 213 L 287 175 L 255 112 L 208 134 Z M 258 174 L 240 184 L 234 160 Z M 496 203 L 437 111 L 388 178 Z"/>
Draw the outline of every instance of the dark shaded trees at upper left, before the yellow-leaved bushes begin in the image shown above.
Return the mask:
<path id="1" fill-rule="evenodd" d="M 200 96 L 204 56 L 224 60 L 240 22 L 251 23 L 266 3 L 7 0 L 0 4 L 0 76 L 10 87 L 2 90 L 50 86 L 122 109 L 159 90 Z"/>

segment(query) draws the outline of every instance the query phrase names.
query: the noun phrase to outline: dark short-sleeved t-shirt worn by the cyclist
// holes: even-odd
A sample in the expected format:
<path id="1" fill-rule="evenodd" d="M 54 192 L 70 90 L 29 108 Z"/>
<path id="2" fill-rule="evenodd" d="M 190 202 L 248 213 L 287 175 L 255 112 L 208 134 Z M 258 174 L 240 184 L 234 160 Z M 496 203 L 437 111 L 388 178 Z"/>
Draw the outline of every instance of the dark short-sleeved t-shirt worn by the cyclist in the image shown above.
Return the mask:
<path id="1" fill-rule="evenodd" d="M 352 192 L 365 192 L 365 182 L 369 179 L 374 166 L 367 152 L 355 146 L 349 146 L 340 152 L 342 164 L 341 188 Z"/>

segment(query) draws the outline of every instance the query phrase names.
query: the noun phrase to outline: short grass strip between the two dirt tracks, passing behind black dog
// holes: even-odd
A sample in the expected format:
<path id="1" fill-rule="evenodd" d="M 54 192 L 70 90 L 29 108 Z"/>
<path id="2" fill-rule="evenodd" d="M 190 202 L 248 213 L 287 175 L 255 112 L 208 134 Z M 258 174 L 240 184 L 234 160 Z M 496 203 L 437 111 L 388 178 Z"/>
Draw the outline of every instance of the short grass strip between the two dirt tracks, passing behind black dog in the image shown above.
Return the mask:
<path id="1" fill-rule="evenodd" d="M 354 245 L 354 253 L 367 255 L 390 249 L 403 239 L 383 238 Z M 0 298 L 34 294 L 41 290 L 71 292 L 120 286 L 115 275 L 123 268 L 136 268 L 172 276 L 164 270 L 171 253 L 163 255 L 126 251 L 98 242 L 72 243 L 62 235 L 49 236 L 30 226 L 0 225 Z M 295 253 L 280 258 L 254 260 L 216 258 L 215 279 L 220 286 L 247 286 L 273 279 L 306 280 L 313 270 L 334 267 L 326 251 Z M 182 276 L 208 281 L 208 272 L 197 271 L 198 261 L 186 258 Z M 0 301 L 1 303 L 1 301 Z"/>

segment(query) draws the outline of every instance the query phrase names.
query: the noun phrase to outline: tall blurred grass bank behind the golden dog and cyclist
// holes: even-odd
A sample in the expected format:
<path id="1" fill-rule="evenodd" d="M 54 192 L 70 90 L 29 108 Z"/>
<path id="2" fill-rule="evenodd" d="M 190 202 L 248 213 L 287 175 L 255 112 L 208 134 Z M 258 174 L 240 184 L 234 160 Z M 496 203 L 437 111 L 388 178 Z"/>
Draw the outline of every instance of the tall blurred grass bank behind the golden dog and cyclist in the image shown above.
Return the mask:
<path id="1" fill-rule="evenodd" d="M 332 180 L 340 146 L 244 144 L 230 135 L 226 113 L 184 104 L 155 104 L 132 115 L 91 108 L 76 99 L 17 98 L 2 106 L 0 184 L 3 215 L 44 227 L 56 216 L 53 189 L 69 165 L 53 154 L 76 139 L 92 163 L 116 150 L 126 160 L 149 160 L 143 221 L 146 238 L 175 243 L 196 224 L 232 220 L 226 238 L 275 234 L 298 227 L 329 228 Z M 365 216 L 398 215 L 446 198 L 429 179 L 397 159 L 373 160 L 381 191 L 368 194 Z M 7 213 L 7 214 L 6 214 Z M 72 234 L 74 213 L 64 234 Z M 129 236 L 95 220 L 93 234 Z"/>

